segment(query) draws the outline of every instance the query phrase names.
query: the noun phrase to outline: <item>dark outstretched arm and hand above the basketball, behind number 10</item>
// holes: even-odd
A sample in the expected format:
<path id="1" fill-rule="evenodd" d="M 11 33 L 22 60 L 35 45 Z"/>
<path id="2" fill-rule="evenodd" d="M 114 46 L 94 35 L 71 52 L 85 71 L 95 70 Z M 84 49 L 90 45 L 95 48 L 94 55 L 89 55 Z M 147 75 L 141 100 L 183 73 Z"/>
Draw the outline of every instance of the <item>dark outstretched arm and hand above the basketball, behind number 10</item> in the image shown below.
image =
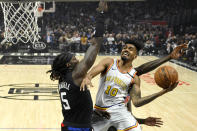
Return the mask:
<path id="1" fill-rule="evenodd" d="M 163 58 L 147 62 L 141 66 L 138 66 L 137 68 L 135 68 L 137 70 L 137 75 L 140 76 L 142 74 L 150 72 L 150 71 L 154 70 L 155 68 L 157 68 L 158 66 L 160 66 L 161 64 L 169 61 L 170 59 L 178 59 L 179 57 L 181 57 L 184 54 L 184 50 L 186 48 L 187 48 L 187 44 L 179 45 L 172 51 L 171 54 L 169 54 Z"/>

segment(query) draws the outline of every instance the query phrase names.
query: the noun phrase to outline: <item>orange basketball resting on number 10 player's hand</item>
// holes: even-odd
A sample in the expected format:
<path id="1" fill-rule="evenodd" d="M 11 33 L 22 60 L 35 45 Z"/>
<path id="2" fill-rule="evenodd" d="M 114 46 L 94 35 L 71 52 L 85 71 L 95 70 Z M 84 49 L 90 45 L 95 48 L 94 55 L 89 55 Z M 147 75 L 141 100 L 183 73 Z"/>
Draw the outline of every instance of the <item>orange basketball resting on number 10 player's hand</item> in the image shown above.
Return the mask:
<path id="1" fill-rule="evenodd" d="M 166 89 L 171 83 L 176 83 L 178 80 L 178 72 L 171 66 L 162 66 L 155 72 L 154 79 L 158 86 Z"/>

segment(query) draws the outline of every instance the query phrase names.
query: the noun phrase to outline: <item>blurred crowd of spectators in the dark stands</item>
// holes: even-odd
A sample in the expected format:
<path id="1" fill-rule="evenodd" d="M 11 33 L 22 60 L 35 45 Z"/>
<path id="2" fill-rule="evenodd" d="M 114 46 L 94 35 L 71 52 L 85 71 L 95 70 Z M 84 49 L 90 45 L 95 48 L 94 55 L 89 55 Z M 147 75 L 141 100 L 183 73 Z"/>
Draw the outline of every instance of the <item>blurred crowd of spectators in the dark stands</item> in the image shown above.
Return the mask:
<path id="1" fill-rule="evenodd" d="M 85 52 L 95 29 L 96 7 L 95 2 L 57 2 L 54 13 L 44 13 L 40 18 L 42 41 L 51 50 Z M 166 55 L 177 45 L 189 43 L 184 61 L 196 65 L 197 31 L 191 31 L 195 13 L 197 7 L 186 0 L 109 3 L 101 53 L 120 53 L 127 39 L 144 43 L 141 55 Z M 0 24 L 1 41 L 2 21 Z M 0 45 L 0 50 L 11 47 Z"/>

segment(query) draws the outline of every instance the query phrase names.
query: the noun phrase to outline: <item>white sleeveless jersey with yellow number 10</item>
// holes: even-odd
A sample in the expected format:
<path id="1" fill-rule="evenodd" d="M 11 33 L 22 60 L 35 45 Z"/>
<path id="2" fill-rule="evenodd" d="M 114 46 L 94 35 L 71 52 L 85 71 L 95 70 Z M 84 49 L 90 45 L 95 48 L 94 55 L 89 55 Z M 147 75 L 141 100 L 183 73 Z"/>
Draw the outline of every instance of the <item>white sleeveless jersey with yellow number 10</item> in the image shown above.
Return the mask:
<path id="1" fill-rule="evenodd" d="M 106 74 L 100 78 L 94 106 L 96 109 L 105 110 L 113 105 L 124 103 L 129 94 L 128 90 L 137 72 L 131 68 L 127 73 L 122 73 L 118 62 L 119 60 L 114 59 Z"/>

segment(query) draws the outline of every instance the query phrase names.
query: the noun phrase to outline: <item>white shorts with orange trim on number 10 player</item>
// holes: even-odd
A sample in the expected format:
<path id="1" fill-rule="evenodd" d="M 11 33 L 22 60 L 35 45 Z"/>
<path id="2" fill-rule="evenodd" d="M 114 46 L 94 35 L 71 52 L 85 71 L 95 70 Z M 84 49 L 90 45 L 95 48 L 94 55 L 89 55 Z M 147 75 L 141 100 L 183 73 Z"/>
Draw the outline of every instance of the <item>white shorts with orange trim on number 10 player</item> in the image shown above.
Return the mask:
<path id="1" fill-rule="evenodd" d="M 94 131 L 107 131 L 110 126 L 116 127 L 118 131 L 141 131 L 140 125 L 125 104 L 114 105 L 106 111 L 110 113 L 111 118 L 94 122 Z"/>

